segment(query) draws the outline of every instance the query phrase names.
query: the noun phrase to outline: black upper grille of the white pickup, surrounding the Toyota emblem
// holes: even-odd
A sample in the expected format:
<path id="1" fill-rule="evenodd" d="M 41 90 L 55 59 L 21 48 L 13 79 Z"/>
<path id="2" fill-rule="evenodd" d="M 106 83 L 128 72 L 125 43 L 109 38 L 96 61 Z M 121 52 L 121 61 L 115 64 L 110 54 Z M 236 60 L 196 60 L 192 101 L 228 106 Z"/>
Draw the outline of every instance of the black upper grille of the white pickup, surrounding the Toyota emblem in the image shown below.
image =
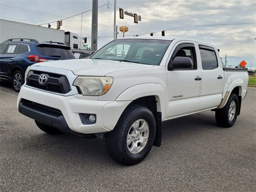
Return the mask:
<path id="1" fill-rule="evenodd" d="M 38 82 L 39 76 L 41 74 L 44 74 L 47 77 L 47 81 L 45 84 L 40 84 Z M 47 90 L 50 92 L 66 94 L 71 90 L 66 76 L 60 74 L 32 70 L 28 73 L 26 81 L 26 84 L 31 87 Z"/>

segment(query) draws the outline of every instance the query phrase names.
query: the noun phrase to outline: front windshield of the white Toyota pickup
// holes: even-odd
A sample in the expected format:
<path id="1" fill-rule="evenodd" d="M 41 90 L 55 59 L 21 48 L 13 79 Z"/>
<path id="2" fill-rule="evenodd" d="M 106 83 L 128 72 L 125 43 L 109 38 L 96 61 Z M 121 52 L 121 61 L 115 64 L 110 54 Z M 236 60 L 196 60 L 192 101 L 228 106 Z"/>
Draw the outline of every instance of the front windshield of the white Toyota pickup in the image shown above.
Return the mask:
<path id="1" fill-rule="evenodd" d="M 155 39 L 114 40 L 98 50 L 90 59 L 106 59 L 159 65 L 171 41 Z"/>

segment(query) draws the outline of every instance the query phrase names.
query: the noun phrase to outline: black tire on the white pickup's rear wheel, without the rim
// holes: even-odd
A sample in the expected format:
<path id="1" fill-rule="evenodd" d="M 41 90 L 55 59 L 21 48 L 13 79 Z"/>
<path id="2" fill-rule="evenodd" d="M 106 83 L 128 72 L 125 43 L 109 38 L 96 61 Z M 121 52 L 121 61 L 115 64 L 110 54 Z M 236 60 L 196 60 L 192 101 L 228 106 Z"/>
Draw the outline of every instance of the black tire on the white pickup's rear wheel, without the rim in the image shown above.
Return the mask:
<path id="1" fill-rule="evenodd" d="M 232 101 L 234 101 L 236 104 L 236 110 L 233 113 L 234 118 L 232 120 L 230 120 L 228 115 L 229 115 L 230 105 L 232 104 Z M 215 120 L 216 120 L 217 125 L 220 127 L 226 127 L 226 128 L 232 127 L 234 125 L 234 123 L 236 122 L 239 107 L 240 106 L 239 106 L 237 95 L 234 93 L 231 93 L 226 105 L 223 108 L 217 109 L 215 111 Z"/>

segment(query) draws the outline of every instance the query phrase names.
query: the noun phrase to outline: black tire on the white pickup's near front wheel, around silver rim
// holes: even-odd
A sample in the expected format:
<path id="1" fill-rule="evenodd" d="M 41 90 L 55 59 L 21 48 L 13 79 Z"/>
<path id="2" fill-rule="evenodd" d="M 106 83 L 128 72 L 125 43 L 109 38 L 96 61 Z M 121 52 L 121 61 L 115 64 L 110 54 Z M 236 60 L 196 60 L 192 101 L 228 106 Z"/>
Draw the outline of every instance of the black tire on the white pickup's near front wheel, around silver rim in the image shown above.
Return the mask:
<path id="1" fill-rule="evenodd" d="M 133 154 L 128 149 L 127 136 L 137 120 L 146 121 L 149 135 L 145 146 L 137 154 Z M 106 149 L 114 160 L 124 165 L 134 165 L 146 158 L 153 146 L 155 135 L 156 122 L 153 113 L 144 106 L 131 105 L 124 110 L 114 130 L 106 133 Z"/>

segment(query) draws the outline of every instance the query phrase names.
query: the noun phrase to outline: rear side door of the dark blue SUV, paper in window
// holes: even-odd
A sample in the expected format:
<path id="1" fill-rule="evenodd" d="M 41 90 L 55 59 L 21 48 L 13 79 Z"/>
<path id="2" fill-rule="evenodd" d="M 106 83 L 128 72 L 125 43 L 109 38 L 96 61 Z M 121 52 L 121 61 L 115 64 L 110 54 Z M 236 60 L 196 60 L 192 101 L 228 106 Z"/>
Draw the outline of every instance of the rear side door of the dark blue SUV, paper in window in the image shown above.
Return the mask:
<path id="1" fill-rule="evenodd" d="M 8 43 L 5 48 L 4 53 L 0 58 L 0 74 L 1 76 L 11 77 L 11 68 L 13 64 L 16 64 L 15 57 L 17 55 L 20 44 L 18 43 Z"/>

